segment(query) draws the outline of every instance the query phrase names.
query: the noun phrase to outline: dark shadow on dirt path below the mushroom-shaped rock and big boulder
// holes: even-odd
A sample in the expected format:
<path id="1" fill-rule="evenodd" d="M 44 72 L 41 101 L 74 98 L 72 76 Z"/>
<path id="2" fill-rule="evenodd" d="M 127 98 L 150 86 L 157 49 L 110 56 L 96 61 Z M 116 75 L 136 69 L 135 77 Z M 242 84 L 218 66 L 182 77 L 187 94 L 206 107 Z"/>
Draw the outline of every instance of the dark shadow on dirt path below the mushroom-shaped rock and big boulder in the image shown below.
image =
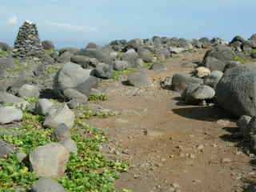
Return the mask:
<path id="1" fill-rule="evenodd" d="M 223 118 L 232 118 L 226 111 L 216 106 L 192 106 L 183 107 L 173 110 L 174 114 L 178 114 L 185 118 L 214 122 Z"/>

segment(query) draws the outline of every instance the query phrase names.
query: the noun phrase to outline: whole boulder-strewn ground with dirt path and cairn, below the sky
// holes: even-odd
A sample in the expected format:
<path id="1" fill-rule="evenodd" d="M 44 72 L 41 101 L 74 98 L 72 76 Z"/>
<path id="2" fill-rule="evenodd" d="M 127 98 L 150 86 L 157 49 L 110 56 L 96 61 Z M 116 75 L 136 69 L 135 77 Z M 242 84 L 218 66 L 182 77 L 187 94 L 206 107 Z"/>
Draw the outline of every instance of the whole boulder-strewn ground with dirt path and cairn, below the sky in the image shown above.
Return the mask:
<path id="1" fill-rule="evenodd" d="M 0 192 L 256 191 L 256 34 L 0 42 Z"/>

